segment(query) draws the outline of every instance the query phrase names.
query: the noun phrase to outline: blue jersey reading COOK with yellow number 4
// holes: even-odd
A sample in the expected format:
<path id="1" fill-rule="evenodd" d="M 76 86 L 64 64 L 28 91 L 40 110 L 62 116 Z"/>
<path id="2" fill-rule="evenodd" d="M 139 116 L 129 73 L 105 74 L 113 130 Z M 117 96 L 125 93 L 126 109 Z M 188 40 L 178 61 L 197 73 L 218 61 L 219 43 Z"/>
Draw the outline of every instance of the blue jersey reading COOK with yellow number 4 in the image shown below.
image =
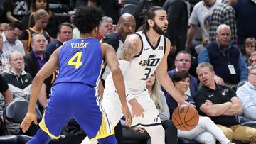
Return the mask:
<path id="1" fill-rule="evenodd" d="M 55 84 L 79 82 L 96 87 L 100 79 L 102 62 L 100 40 L 96 38 L 68 40 L 60 49 L 59 74 Z"/>

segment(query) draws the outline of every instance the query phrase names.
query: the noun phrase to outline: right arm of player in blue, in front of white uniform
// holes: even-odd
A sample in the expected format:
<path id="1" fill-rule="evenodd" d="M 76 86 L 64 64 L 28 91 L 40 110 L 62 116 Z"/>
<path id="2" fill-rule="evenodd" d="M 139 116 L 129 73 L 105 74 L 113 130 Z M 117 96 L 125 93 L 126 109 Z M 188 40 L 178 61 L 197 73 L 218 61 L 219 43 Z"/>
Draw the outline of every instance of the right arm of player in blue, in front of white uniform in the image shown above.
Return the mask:
<path id="1" fill-rule="evenodd" d="M 125 116 L 125 125 L 130 126 L 132 123 L 132 116 L 127 106 L 125 88 L 124 88 L 124 77 L 119 68 L 119 63 L 117 61 L 117 56 L 114 48 L 107 43 L 101 44 L 102 49 L 105 50 L 105 61 L 109 65 L 112 72 L 112 77 L 114 81 L 114 86 L 117 89 L 117 94 L 122 104 L 122 113 Z"/>

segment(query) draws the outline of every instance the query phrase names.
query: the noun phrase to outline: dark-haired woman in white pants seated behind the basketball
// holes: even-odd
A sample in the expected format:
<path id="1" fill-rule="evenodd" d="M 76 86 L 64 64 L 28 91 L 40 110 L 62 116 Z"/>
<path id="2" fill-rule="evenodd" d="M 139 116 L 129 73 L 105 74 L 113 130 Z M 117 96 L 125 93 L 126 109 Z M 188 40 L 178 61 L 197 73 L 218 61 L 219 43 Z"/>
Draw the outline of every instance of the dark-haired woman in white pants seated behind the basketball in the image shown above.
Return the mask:
<path id="1" fill-rule="evenodd" d="M 190 84 L 190 75 L 184 70 L 180 70 L 174 74 L 173 77 L 174 85 L 178 92 L 183 96 L 186 101 L 190 104 L 195 104 L 192 96 L 186 95 Z M 191 131 L 180 131 L 178 130 L 178 137 L 186 138 L 189 140 L 196 140 L 199 143 L 216 143 L 218 140 L 222 144 L 231 144 L 230 140 L 225 137 L 223 131 L 218 128 L 213 121 L 207 116 L 200 116 L 198 125 Z"/>

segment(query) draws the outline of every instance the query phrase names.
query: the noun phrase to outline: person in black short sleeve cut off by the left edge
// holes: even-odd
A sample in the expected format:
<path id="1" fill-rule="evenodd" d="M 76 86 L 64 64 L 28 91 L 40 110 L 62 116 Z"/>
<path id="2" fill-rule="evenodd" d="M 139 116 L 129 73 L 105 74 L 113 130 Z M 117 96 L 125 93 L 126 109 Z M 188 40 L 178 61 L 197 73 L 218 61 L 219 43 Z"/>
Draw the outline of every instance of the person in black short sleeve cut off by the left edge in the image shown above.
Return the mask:
<path id="1" fill-rule="evenodd" d="M 4 111 L 4 106 L 11 102 L 12 96 L 6 79 L 0 74 L 0 116 Z"/>

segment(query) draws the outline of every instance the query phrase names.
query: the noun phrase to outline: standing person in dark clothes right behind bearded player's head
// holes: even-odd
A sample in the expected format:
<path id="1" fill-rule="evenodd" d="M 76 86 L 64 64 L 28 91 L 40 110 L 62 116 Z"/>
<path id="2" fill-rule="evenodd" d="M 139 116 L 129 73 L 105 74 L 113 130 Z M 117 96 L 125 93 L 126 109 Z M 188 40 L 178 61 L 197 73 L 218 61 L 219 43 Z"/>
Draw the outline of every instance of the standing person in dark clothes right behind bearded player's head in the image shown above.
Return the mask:
<path id="1" fill-rule="evenodd" d="M 188 29 L 188 0 L 167 0 L 163 8 L 168 16 L 166 37 L 171 40 L 171 50 L 168 57 L 168 70 L 174 68 L 174 57 L 184 50 Z M 176 13 L 176 14 L 174 14 Z"/>

